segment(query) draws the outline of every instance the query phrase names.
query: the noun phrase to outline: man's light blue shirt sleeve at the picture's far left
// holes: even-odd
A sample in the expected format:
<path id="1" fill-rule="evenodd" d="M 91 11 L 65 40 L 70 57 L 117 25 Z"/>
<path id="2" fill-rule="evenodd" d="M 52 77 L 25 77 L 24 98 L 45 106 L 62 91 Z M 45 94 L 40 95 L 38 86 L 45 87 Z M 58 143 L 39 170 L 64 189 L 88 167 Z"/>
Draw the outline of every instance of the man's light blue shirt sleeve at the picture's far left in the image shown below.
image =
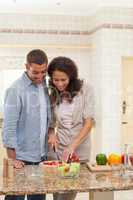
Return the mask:
<path id="1" fill-rule="evenodd" d="M 2 139 L 5 147 L 17 146 L 17 123 L 21 111 L 21 101 L 16 88 L 6 91 L 4 100 L 4 120 Z"/>

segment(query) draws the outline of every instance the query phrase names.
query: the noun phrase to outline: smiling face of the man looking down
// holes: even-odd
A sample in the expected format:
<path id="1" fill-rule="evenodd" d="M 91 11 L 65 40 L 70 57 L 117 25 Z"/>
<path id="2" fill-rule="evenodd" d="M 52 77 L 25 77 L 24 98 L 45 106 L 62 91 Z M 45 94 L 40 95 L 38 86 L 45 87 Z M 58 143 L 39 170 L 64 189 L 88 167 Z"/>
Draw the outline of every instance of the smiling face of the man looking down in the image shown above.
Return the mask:
<path id="1" fill-rule="evenodd" d="M 40 84 L 44 80 L 47 72 L 47 64 L 43 63 L 42 65 L 31 63 L 26 64 L 27 75 L 35 83 Z"/>

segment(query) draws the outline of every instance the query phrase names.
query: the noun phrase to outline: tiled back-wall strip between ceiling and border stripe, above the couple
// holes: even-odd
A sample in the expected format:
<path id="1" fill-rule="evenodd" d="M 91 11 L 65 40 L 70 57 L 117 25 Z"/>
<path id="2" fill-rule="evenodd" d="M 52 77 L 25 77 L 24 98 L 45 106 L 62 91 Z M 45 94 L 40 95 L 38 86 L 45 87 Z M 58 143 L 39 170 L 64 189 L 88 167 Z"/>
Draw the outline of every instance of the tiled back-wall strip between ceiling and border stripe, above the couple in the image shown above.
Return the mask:
<path id="1" fill-rule="evenodd" d="M 1 14 L 0 18 L 1 28 L 12 29 L 84 31 L 89 26 L 89 17 L 86 16 Z"/>

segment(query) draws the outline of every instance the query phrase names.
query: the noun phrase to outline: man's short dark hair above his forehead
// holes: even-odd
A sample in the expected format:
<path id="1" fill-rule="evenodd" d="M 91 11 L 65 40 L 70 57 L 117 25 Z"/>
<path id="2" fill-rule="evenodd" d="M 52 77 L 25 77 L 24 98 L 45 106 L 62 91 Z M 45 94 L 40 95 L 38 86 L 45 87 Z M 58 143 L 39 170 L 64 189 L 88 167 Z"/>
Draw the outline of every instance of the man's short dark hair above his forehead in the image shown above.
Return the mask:
<path id="1" fill-rule="evenodd" d="M 42 65 L 44 63 L 48 63 L 48 58 L 44 51 L 40 49 L 34 49 L 27 54 L 26 61 L 28 64 L 35 63 Z"/>

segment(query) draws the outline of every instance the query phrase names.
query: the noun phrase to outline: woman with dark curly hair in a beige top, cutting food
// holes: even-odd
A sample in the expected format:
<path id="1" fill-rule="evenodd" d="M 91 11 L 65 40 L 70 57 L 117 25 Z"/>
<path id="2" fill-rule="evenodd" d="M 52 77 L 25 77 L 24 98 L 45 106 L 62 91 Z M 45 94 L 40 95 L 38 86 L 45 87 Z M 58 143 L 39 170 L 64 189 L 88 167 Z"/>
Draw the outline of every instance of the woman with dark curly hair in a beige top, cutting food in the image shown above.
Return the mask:
<path id="1" fill-rule="evenodd" d="M 67 57 L 56 57 L 48 66 L 51 100 L 57 133 L 49 134 L 49 144 L 60 158 L 73 152 L 86 162 L 90 158 L 90 131 L 94 121 L 92 88 L 78 78 L 77 66 Z M 76 193 L 56 194 L 55 200 L 73 200 Z"/>

